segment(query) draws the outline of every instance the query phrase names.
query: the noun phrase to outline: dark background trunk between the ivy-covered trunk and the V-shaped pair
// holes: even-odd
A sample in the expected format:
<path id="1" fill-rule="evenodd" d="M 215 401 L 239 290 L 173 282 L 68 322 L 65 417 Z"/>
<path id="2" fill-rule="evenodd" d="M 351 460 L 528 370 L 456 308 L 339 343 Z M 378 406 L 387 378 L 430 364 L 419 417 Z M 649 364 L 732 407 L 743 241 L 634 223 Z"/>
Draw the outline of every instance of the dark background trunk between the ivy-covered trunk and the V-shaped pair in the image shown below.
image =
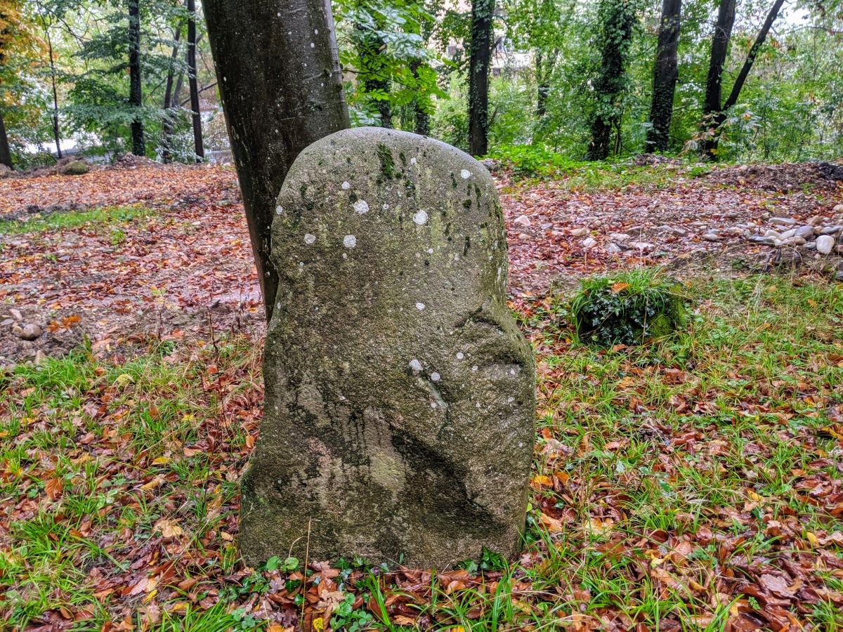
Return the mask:
<path id="1" fill-rule="evenodd" d="M 662 20 L 658 28 L 656 67 L 652 77 L 650 129 L 647 151 L 666 152 L 670 141 L 670 120 L 674 115 L 674 94 L 679 68 L 676 49 L 679 46 L 679 24 L 682 0 L 663 0 Z"/>

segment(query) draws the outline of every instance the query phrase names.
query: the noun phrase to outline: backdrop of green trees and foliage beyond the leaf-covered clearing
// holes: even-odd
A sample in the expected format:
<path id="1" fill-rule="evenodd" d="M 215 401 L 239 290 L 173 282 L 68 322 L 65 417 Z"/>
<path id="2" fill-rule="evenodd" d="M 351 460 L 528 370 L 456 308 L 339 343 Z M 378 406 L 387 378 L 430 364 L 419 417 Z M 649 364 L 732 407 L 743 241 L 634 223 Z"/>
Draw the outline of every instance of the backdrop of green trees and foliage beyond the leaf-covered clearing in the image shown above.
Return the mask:
<path id="1" fill-rule="evenodd" d="M 337 0 L 352 125 L 486 153 L 470 147 L 468 80 L 472 8 L 476 20 L 484 4 L 479 147 L 521 169 L 652 151 L 843 154 L 843 6 L 824 0 Z M 195 0 L 0 0 L 0 163 L 28 169 L 68 151 L 225 159 L 204 30 Z"/>

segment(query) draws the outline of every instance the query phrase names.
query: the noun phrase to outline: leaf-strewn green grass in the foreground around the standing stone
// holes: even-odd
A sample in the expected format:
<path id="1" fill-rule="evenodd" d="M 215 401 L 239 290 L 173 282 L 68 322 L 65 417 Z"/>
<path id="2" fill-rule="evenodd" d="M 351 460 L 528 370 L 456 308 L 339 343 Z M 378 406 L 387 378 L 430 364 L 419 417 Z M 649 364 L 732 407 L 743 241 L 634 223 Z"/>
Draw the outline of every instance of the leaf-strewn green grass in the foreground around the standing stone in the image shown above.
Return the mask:
<path id="1" fill-rule="evenodd" d="M 329 585 L 344 595 L 334 629 L 713 632 L 735 613 L 763 620 L 744 587 L 801 560 L 830 596 L 801 611 L 794 601 L 792 615 L 843 627 L 843 575 L 816 561 L 820 549 L 843 561 L 833 538 L 819 544 L 843 531 L 839 501 L 809 493 L 840 479 L 843 295 L 766 276 L 685 292 L 696 298 L 684 329 L 621 351 L 577 343 L 570 295 L 519 303 L 539 368 L 524 556 L 490 557 L 481 575 L 343 565 Z M 234 545 L 262 394 L 254 341 L 133 351 L 121 366 L 82 349 L 2 378 L 4 629 L 61 608 L 77 629 L 319 619 L 325 583 L 309 581 L 303 600 L 287 562 L 244 569 Z M 169 564 L 174 576 L 128 594 Z M 277 610 L 261 605 L 269 594 Z"/>

